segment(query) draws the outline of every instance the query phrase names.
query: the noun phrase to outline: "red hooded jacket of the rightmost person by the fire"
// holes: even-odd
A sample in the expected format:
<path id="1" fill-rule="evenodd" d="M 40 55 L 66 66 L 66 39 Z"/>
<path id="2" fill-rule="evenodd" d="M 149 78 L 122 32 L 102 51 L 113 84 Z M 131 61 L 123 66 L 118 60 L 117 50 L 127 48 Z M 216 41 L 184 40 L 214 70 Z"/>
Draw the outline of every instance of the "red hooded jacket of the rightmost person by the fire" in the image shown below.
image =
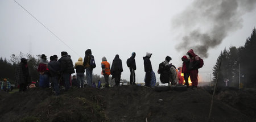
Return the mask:
<path id="1" fill-rule="evenodd" d="M 189 70 L 198 69 L 198 66 L 200 65 L 199 57 L 194 53 L 193 49 L 189 50 L 187 54 L 192 55 L 189 62 Z"/>

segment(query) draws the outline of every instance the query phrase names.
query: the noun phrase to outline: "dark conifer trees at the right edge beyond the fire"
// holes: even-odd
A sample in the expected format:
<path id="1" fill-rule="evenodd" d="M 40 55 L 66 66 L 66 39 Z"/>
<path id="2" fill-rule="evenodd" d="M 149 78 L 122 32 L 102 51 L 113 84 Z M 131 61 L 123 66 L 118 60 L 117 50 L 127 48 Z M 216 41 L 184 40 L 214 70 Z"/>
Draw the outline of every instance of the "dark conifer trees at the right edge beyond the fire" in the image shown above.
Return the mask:
<path id="1" fill-rule="evenodd" d="M 256 87 L 256 30 L 255 27 L 241 47 L 229 47 L 221 51 L 213 67 L 213 81 L 218 74 L 218 86 L 224 86 L 229 79 L 232 87 Z M 219 65 L 221 66 L 219 69 Z M 239 80 L 241 84 L 239 84 Z"/>

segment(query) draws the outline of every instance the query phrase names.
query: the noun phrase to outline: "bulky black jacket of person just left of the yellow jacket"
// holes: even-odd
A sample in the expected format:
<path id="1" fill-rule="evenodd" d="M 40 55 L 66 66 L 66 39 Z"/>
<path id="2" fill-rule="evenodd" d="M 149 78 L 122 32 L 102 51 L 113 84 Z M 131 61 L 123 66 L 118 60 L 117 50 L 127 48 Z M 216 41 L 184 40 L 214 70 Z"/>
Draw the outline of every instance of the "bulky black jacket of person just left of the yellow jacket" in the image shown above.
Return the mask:
<path id="1" fill-rule="evenodd" d="M 68 55 L 64 55 L 59 59 L 60 62 L 60 73 L 75 73 L 73 61 Z"/>

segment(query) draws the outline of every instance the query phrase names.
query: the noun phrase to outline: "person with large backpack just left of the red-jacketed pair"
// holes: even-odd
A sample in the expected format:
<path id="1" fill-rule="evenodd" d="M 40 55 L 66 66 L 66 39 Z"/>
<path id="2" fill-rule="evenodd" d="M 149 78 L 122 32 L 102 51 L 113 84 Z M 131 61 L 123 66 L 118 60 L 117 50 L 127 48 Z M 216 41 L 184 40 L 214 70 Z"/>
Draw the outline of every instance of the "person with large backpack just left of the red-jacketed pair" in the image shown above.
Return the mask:
<path id="1" fill-rule="evenodd" d="M 169 62 L 172 60 L 170 56 L 166 56 L 166 60 L 159 64 L 158 74 L 160 74 L 161 83 L 170 83 L 170 65 Z"/>

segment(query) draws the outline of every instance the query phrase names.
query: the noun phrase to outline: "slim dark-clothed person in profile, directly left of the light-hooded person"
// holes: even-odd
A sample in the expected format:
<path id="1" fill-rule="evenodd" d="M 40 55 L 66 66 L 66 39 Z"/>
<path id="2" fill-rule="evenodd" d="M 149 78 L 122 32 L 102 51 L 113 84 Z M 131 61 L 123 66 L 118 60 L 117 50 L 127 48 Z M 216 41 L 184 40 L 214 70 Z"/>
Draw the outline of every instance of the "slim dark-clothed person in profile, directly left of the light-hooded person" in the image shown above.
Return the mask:
<path id="1" fill-rule="evenodd" d="M 130 69 L 130 85 L 136 85 L 135 83 L 135 71 L 136 70 L 136 62 L 135 62 L 136 53 L 131 53 L 131 57 L 127 59 L 126 64 Z"/>

